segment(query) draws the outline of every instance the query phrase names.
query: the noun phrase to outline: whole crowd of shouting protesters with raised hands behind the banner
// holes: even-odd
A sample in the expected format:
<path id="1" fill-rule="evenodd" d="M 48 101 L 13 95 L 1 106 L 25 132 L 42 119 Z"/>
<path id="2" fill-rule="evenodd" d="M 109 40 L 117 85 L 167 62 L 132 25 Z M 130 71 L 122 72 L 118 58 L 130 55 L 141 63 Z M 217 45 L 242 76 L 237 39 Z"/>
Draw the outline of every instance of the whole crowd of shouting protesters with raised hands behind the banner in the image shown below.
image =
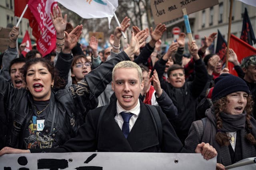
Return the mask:
<path id="1" fill-rule="evenodd" d="M 110 36 L 112 47 L 97 51 L 95 37 L 90 48 L 81 48 L 82 25 L 67 24 L 59 7 L 51 18 L 56 51 L 44 58 L 36 49 L 21 55 L 19 27 L 10 31 L 0 70 L 0 155 L 162 151 L 209 159 L 218 153 L 216 169 L 222 170 L 256 156 L 256 54 L 239 63 L 229 49 L 236 77 L 222 68 L 218 55 L 205 55 L 216 33 L 205 37 L 200 49 L 190 42 L 189 57 L 180 33 L 160 55 L 166 26 L 141 31 L 134 25 L 128 47 L 120 51 L 121 31 L 130 26 L 126 17 Z M 128 111 L 133 114 L 127 134 L 123 112 Z M 150 122 L 151 112 L 160 125 Z"/>

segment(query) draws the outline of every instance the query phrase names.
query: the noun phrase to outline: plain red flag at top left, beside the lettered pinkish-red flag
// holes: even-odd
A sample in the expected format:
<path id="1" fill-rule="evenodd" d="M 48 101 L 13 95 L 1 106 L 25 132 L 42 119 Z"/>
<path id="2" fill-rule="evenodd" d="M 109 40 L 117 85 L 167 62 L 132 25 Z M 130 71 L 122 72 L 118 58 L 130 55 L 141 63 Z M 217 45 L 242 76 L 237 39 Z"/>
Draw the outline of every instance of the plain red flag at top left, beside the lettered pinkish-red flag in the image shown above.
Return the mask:
<path id="1" fill-rule="evenodd" d="M 14 0 L 14 16 L 20 17 L 26 7 L 26 4 L 28 4 L 28 0 Z M 23 18 L 30 20 L 30 16 L 32 16 L 32 14 L 30 10 L 27 9 Z"/>

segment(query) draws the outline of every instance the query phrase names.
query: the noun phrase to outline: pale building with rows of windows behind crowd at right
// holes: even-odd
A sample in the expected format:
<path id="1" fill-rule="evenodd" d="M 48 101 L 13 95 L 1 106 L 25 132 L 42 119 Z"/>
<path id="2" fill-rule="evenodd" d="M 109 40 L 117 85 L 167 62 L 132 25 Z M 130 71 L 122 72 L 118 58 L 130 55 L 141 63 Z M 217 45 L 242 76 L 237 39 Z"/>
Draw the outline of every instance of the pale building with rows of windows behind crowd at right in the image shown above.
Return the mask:
<path id="1" fill-rule="evenodd" d="M 243 14 L 245 8 L 248 10 L 248 15 L 252 23 L 252 29 L 254 30 L 254 33 L 256 33 L 256 7 L 234 0 L 232 8 L 231 33 L 239 38 L 242 31 Z M 204 36 L 207 37 L 213 32 L 218 32 L 218 29 L 227 40 L 229 11 L 230 0 L 219 0 L 218 5 L 188 15 L 193 39 L 196 40 L 199 47 L 202 45 Z M 170 44 L 175 39 L 174 35 L 172 35 L 173 27 L 180 27 L 181 31 L 186 33 L 183 17 L 168 21 L 165 24 L 167 27 L 167 31 L 164 35 L 164 41 L 166 44 Z M 217 39 L 215 39 L 215 44 L 216 41 Z M 188 42 L 187 38 L 186 42 Z M 185 51 L 188 52 L 187 45 Z M 211 52 L 215 52 L 215 49 L 211 49 Z"/>

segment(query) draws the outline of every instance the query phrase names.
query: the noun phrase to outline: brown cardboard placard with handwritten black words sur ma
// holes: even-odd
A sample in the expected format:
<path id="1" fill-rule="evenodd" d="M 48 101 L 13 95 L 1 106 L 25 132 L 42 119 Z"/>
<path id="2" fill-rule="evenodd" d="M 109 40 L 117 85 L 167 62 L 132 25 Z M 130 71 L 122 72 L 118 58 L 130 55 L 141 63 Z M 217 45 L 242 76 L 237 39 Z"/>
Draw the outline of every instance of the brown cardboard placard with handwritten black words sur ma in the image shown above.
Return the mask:
<path id="1" fill-rule="evenodd" d="M 183 8 L 191 14 L 218 3 L 218 0 L 151 0 L 150 5 L 155 24 L 158 24 L 182 17 Z"/>

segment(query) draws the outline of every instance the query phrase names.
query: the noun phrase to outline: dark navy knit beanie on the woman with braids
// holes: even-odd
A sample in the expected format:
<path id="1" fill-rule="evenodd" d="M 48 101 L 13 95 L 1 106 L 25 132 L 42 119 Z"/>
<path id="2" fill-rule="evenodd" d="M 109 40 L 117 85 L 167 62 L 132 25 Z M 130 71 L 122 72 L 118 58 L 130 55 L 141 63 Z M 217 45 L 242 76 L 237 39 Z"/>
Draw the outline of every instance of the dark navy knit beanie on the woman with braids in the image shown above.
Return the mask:
<path id="1" fill-rule="evenodd" d="M 214 80 L 214 88 L 212 90 L 212 102 L 227 96 L 233 92 L 246 92 L 249 94 L 250 90 L 246 82 L 242 78 L 233 76 L 232 74 L 221 74 Z"/>

